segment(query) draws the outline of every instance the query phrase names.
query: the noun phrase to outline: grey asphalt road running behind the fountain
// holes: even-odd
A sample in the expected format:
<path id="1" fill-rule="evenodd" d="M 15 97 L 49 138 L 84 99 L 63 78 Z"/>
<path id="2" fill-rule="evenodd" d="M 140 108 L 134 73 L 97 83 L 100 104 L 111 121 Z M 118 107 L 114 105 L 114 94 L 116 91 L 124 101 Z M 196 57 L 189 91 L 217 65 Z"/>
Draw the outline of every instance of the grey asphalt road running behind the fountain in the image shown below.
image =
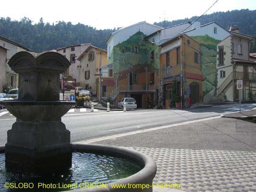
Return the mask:
<path id="1" fill-rule="evenodd" d="M 248 107 L 250 106 L 250 107 Z M 252 109 L 252 105 L 242 109 Z M 0 110 L 1 113 L 6 109 Z M 98 111 L 94 113 L 72 112 L 62 117 L 71 132 L 71 141 L 77 142 L 102 136 L 132 132 L 139 129 L 176 124 L 190 120 L 216 117 L 223 113 L 237 111 L 237 106 L 214 106 L 187 110 L 137 110 L 127 112 Z M 7 131 L 15 122 L 10 114 L 0 116 L 0 145 L 7 142 Z"/>

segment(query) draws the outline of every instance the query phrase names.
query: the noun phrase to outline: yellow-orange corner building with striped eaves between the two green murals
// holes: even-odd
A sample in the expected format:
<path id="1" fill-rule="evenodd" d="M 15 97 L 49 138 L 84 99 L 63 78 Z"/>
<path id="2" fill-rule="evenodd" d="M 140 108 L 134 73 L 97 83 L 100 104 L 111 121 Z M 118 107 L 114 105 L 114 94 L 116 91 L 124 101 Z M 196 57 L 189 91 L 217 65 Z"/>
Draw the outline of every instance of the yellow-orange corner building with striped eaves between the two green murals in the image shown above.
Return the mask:
<path id="1" fill-rule="evenodd" d="M 172 84 L 176 81 L 176 93 L 181 107 L 203 102 L 200 44 L 186 34 L 180 34 L 160 45 L 160 105 L 171 103 Z M 178 101 L 177 101 L 178 102 Z"/>

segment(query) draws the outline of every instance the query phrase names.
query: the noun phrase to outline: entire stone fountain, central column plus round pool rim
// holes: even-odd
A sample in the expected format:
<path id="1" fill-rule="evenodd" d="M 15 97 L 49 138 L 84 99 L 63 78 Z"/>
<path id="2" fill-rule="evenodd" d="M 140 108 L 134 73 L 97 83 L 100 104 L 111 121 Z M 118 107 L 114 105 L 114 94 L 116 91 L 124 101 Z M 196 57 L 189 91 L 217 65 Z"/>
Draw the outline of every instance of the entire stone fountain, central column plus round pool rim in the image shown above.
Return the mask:
<path id="1" fill-rule="evenodd" d="M 70 65 L 64 56 L 56 52 L 19 52 L 11 57 L 8 64 L 19 74 L 19 100 L 3 102 L 16 117 L 16 122 L 7 133 L 5 147 L 0 146 L 0 157 L 5 152 L 7 170 L 47 174 L 58 172 L 64 173 L 65 177 L 65 172 L 72 166 L 72 152 L 104 154 L 106 157 L 130 159 L 139 163 L 140 169 L 130 176 L 109 181 L 112 183 L 108 183 L 107 188 L 83 188 L 76 190 L 77 192 L 152 192 L 156 164 L 149 156 L 122 147 L 70 142 L 70 132 L 61 122 L 61 117 L 75 102 L 59 101 L 60 73 Z M 108 174 L 109 171 L 105 168 L 108 162 L 105 159 L 100 163 L 102 162 L 105 162 L 103 170 Z M 127 166 L 121 169 L 125 170 Z M 4 182 L 7 180 L 5 178 Z M 83 178 L 79 181 L 83 181 Z M 1 182 L 3 180 L 0 178 Z M 150 187 L 120 189 L 111 188 L 111 184 L 143 184 Z"/>

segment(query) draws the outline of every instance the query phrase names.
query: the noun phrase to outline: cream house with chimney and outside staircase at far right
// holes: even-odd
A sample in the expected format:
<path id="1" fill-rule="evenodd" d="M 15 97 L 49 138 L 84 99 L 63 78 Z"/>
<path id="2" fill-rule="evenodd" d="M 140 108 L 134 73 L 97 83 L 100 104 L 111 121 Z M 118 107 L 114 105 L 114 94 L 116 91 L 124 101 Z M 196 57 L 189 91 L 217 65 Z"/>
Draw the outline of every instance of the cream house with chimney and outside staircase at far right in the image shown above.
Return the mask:
<path id="1" fill-rule="evenodd" d="M 243 80 L 241 100 L 256 94 L 256 61 L 250 58 L 249 41 L 252 36 L 241 34 L 236 27 L 230 36 L 217 45 L 217 83 L 218 97 L 235 102 L 239 99 L 237 80 Z"/>

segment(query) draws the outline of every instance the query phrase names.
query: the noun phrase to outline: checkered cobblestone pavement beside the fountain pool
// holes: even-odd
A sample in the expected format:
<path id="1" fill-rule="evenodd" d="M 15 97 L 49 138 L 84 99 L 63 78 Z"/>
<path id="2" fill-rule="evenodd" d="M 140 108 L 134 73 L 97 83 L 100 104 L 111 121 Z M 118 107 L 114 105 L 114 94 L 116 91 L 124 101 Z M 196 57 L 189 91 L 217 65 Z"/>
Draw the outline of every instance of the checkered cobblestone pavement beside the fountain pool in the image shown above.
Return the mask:
<path id="1" fill-rule="evenodd" d="M 179 190 L 187 192 L 256 191 L 255 152 L 128 148 L 154 159 L 157 164 L 154 184 L 177 183 L 181 185 Z"/>

